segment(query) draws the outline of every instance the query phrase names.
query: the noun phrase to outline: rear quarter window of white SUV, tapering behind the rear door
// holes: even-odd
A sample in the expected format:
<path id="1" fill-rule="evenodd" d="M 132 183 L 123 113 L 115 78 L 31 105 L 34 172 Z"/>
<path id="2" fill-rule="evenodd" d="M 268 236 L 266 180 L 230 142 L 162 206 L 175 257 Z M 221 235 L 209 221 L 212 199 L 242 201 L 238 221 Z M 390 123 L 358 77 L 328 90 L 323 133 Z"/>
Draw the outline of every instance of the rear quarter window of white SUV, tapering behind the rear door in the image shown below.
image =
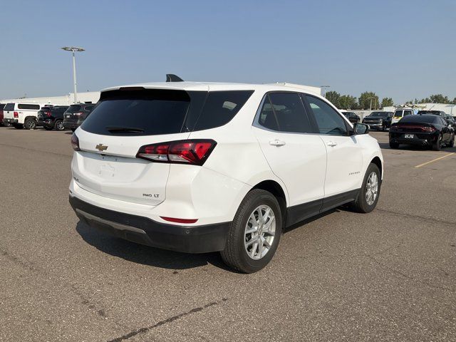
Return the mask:
<path id="1" fill-rule="evenodd" d="M 210 91 L 194 130 L 226 125 L 249 100 L 253 90 Z"/>

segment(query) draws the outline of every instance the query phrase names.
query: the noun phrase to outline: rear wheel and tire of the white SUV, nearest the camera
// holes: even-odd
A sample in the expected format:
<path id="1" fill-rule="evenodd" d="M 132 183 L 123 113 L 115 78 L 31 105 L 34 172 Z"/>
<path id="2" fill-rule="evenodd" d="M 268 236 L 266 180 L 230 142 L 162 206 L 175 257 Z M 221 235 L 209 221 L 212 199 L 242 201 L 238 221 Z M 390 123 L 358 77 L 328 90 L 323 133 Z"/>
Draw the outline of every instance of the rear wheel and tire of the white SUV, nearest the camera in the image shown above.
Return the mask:
<path id="1" fill-rule="evenodd" d="M 239 205 L 220 254 L 225 264 L 236 271 L 259 271 L 274 257 L 281 233 L 282 215 L 276 197 L 254 189 Z"/>

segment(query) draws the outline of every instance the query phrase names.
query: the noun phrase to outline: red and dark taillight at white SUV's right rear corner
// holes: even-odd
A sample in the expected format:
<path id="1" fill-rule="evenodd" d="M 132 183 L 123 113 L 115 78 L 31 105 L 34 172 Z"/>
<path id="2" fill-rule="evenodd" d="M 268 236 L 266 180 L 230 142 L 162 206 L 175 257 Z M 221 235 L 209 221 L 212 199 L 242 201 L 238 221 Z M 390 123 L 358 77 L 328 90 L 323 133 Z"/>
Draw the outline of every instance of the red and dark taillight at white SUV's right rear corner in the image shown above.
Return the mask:
<path id="1" fill-rule="evenodd" d="M 177 162 L 181 164 L 203 165 L 214 150 L 214 140 L 180 140 L 145 145 L 136 157 L 152 162 Z"/>

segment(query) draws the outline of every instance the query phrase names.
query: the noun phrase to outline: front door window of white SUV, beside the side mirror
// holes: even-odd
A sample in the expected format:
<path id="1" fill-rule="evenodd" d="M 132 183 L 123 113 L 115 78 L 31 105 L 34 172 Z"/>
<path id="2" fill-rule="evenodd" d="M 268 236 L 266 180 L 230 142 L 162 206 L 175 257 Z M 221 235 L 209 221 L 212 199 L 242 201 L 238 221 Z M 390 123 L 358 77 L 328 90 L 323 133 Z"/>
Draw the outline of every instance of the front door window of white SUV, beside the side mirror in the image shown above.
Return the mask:
<path id="1" fill-rule="evenodd" d="M 314 113 L 314 118 L 320 134 L 347 134 L 345 120 L 343 120 L 341 115 L 339 115 L 336 110 L 331 107 L 331 105 L 328 105 L 328 103 L 320 100 L 319 98 L 314 98 L 314 96 L 305 96 L 312 113 Z"/>

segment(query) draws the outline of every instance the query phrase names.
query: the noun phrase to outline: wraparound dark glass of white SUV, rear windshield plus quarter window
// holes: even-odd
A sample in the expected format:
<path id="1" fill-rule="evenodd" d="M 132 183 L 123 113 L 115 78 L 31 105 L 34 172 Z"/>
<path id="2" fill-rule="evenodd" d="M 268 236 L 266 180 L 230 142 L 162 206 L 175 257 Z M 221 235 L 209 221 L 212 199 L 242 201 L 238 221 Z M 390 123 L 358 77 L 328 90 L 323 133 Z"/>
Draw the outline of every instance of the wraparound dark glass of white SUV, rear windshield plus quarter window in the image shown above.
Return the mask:
<path id="1" fill-rule="evenodd" d="M 232 120 L 252 90 L 111 90 L 81 128 L 101 135 L 162 135 L 219 127 Z M 205 99 L 205 100 L 204 100 Z"/>

